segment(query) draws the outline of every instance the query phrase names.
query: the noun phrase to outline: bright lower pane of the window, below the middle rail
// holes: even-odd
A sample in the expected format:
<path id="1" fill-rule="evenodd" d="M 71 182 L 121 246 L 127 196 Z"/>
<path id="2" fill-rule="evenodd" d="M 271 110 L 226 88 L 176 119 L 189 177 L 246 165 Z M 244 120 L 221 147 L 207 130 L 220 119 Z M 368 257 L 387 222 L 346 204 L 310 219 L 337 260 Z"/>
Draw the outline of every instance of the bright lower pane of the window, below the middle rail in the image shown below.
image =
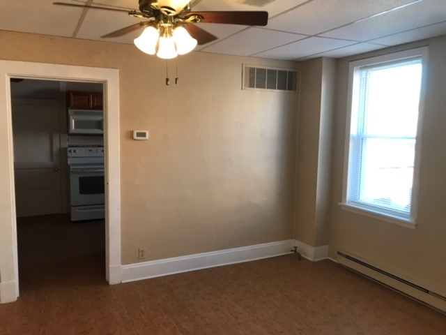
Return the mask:
<path id="1" fill-rule="evenodd" d="M 415 140 L 362 139 L 357 201 L 410 213 Z"/>

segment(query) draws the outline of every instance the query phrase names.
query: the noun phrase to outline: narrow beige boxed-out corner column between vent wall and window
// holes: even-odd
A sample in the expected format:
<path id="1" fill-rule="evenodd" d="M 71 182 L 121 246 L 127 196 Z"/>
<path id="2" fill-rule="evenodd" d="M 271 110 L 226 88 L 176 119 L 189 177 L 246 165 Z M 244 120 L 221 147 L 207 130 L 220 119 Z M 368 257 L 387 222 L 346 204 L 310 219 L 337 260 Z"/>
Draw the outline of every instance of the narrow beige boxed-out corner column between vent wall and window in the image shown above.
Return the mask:
<path id="1" fill-rule="evenodd" d="M 295 239 L 328 245 L 336 60 L 301 64 Z"/>

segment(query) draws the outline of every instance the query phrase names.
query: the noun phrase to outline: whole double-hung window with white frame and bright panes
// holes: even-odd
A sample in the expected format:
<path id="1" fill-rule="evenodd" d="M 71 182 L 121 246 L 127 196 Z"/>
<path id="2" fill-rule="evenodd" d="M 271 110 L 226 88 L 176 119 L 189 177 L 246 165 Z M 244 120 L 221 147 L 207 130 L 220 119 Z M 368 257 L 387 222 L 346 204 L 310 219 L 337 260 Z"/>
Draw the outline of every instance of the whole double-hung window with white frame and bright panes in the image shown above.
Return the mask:
<path id="1" fill-rule="evenodd" d="M 347 207 L 415 223 L 426 48 L 351 63 Z"/>

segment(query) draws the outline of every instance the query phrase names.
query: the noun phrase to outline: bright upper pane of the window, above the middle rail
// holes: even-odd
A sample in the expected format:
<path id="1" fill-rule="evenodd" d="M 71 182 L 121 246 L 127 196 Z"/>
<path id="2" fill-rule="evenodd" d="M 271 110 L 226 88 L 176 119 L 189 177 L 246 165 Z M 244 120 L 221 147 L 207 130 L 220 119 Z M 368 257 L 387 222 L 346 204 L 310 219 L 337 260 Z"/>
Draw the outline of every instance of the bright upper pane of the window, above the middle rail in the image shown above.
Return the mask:
<path id="1" fill-rule="evenodd" d="M 359 131 L 367 135 L 410 136 L 417 133 L 422 75 L 421 59 L 362 70 Z"/>

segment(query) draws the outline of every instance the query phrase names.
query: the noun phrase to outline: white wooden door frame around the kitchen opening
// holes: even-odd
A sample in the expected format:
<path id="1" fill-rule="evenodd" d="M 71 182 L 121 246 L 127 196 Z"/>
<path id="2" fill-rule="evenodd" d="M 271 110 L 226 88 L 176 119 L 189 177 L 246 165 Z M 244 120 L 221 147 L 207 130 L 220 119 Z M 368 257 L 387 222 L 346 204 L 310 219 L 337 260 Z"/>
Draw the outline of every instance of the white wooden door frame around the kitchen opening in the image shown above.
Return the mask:
<path id="1" fill-rule="evenodd" d="M 11 77 L 104 84 L 106 278 L 121 283 L 119 70 L 0 60 L 0 303 L 19 296 Z"/>

